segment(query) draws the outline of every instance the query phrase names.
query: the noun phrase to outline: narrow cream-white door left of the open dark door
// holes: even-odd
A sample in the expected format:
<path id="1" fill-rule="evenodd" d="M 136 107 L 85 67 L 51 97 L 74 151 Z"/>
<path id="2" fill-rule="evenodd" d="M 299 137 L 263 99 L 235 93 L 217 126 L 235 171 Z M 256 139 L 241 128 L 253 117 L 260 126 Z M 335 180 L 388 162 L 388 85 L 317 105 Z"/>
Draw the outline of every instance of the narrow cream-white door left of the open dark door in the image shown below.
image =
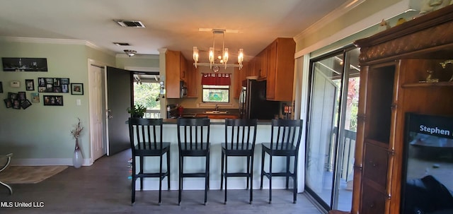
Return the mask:
<path id="1" fill-rule="evenodd" d="M 104 76 L 105 69 L 94 64 L 89 65 L 88 88 L 89 88 L 89 111 L 90 111 L 90 141 L 91 158 L 96 161 L 107 153 L 107 141 L 105 139 L 105 99 L 104 99 Z"/>

